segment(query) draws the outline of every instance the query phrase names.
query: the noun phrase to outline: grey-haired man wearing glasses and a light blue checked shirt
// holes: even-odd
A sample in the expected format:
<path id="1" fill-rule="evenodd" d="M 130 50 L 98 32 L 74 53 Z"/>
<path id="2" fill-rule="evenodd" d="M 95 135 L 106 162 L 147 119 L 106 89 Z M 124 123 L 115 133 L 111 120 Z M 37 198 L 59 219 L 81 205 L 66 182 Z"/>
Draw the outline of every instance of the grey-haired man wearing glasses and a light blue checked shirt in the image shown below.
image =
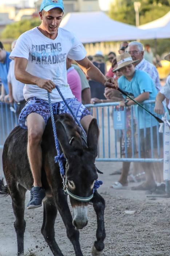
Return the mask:
<path id="1" fill-rule="evenodd" d="M 138 60 L 134 64 L 135 69 L 145 71 L 153 80 L 157 91 L 160 91 L 161 84 L 158 71 L 153 64 L 143 58 L 143 45 L 137 41 L 130 42 L 127 48 L 127 52 L 131 55 L 133 60 Z"/>

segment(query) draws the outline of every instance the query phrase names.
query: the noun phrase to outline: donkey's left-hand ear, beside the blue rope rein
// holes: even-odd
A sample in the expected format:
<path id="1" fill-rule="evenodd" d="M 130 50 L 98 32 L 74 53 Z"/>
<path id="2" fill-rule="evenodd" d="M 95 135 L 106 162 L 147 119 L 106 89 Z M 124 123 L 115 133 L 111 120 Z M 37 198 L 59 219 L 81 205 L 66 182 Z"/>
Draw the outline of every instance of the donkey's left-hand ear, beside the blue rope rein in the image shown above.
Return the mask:
<path id="1" fill-rule="evenodd" d="M 60 122 L 59 120 L 55 122 L 55 125 L 56 125 L 57 138 L 59 140 L 60 146 L 62 147 L 64 157 L 68 158 L 71 154 L 71 146 L 69 144 L 66 130 L 62 122 Z"/>

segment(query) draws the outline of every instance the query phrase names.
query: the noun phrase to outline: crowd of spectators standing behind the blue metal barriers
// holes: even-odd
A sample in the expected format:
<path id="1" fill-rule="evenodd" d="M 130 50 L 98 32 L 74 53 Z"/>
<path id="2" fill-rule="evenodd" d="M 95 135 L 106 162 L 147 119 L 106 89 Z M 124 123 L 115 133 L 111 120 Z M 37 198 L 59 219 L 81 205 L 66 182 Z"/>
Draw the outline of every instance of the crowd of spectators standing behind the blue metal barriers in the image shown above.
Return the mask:
<path id="1" fill-rule="evenodd" d="M 11 48 L 15 48 L 14 41 Z M 15 104 L 17 118 L 21 109 L 25 106 L 23 96 L 24 83 L 15 78 L 14 61 L 9 59 L 9 52 L 4 49 L 0 42 L 0 101 Z M 137 41 L 122 42 L 118 51 L 109 52 L 107 57 L 98 50 L 94 56 L 88 56 L 88 59 L 102 72 L 106 78 L 117 80 L 120 89 L 134 98 L 135 101 L 142 103 L 145 100 L 154 100 L 155 103 L 146 104 L 146 108 L 152 113 L 162 115 L 165 112 L 163 101 L 166 100 L 168 106 L 170 100 L 170 76 L 167 77 L 165 86 L 161 86 L 157 67 L 154 63 L 154 54 L 149 44 L 145 47 Z M 170 54 L 165 57 L 170 61 Z M 110 67 L 107 68 L 110 63 Z M 91 80 L 84 74 L 82 69 L 71 59 L 66 59 L 67 81 L 75 98 L 85 104 L 119 102 L 118 106 L 113 108 L 113 112 L 125 111 L 126 129 L 121 130 L 120 154 L 121 158 L 131 158 L 132 151 L 135 157 L 138 157 L 140 144 L 141 158 L 151 158 L 153 147 L 155 157 L 157 155 L 157 145 L 159 144 L 160 154 L 163 157 L 163 141 L 161 136 L 157 136 L 157 121 L 150 117 L 150 114 L 143 112 L 135 105 L 134 101 L 124 97 L 118 90 L 104 88 L 103 84 Z M 134 106 L 134 114 L 132 106 Z M 115 115 L 114 115 L 115 116 Z M 132 129 L 133 126 L 133 129 Z M 133 134 L 132 134 L 133 130 Z M 152 135 L 151 135 L 152 131 Z M 134 141 L 132 150 L 132 137 L 134 134 L 139 136 L 140 141 Z M 137 137 L 136 136 L 136 137 Z M 153 145 L 151 146 L 150 136 L 153 136 Z M 135 137 L 135 138 L 136 138 Z M 158 138 L 159 137 L 159 138 Z M 122 168 L 119 170 L 120 177 L 112 188 L 124 189 L 128 186 L 130 162 L 122 162 Z M 165 193 L 165 183 L 163 181 L 163 163 L 141 162 L 134 163 L 133 176 L 139 177 L 140 173 L 145 173 L 145 180 L 133 190 L 145 190 L 146 193 Z"/>

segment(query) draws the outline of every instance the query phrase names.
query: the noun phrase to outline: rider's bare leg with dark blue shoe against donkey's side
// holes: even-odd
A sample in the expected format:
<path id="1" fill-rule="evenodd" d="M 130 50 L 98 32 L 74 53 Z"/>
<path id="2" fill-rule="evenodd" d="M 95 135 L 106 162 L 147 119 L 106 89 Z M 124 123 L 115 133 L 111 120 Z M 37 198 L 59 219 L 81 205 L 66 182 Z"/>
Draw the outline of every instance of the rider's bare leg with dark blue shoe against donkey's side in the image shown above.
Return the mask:
<path id="1" fill-rule="evenodd" d="M 31 199 L 27 209 L 33 209 L 42 205 L 45 191 L 41 184 L 41 166 L 42 166 L 42 150 L 41 139 L 45 129 L 43 117 L 37 113 L 31 113 L 27 116 L 28 127 L 28 146 L 27 153 L 29 164 L 33 176 L 33 188 L 31 189 Z"/>

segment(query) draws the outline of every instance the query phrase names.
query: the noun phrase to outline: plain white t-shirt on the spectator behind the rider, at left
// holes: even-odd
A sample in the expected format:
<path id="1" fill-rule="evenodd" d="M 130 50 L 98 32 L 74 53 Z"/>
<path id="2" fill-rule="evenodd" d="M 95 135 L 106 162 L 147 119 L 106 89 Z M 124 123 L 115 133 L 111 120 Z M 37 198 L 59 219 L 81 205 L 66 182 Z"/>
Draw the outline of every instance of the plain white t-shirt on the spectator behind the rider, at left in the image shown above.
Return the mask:
<path id="1" fill-rule="evenodd" d="M 23 95 L 24 83 L 21 83 L 15 78 L 13 60 L 9 64 L 7 80 L 8 80 L 8 83 L 12 84 L 12 96 L 14 100 L 16 102 L 23 101 L 24 100 L 24 95 Z"/>

